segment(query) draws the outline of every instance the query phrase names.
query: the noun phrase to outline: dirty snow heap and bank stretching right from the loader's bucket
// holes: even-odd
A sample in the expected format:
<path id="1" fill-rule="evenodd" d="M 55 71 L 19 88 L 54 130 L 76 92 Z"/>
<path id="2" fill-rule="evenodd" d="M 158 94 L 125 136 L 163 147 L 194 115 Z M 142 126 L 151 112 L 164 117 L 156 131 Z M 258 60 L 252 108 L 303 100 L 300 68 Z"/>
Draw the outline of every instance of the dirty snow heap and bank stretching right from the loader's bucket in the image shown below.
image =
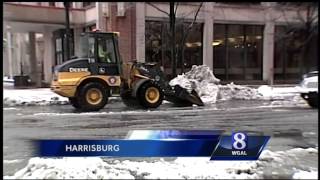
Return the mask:
<path id="1" fill-rule="evenodd" d="M 189 92 L 195 89 L 205 104 L 216 103 L 217 101 L 242 99 L 242 100 L 285 100 L 294 99 L 295 104 L 305 104 L 300 98 L 299 87 L 271 87 L 262 85 L 259 88 L 236 85 L 233 82 L 227 85 L 219 84 L 210 68 L 206 65 L 192 66 L 192 69 L 172 79 L 171 86 L 180 85 Z M 281 102 L 276 102 L 281 103 Z M 285 102 L 285 104 L 287 104 Z M 292 104 L 292 103 L 291 103 Z"/>

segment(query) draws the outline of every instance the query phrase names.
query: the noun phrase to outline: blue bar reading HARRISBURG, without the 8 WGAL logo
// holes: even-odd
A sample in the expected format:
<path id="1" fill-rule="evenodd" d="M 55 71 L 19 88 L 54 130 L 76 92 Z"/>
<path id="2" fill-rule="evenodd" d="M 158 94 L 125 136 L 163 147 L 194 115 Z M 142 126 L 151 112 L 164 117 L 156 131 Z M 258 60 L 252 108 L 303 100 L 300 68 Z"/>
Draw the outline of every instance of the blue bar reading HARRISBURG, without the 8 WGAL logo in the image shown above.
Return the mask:
<path id="1" fill-rule="evenodd" d="M 210 156 L 218 139 L 42 140 L 39 156 L 195 157 Z"/>

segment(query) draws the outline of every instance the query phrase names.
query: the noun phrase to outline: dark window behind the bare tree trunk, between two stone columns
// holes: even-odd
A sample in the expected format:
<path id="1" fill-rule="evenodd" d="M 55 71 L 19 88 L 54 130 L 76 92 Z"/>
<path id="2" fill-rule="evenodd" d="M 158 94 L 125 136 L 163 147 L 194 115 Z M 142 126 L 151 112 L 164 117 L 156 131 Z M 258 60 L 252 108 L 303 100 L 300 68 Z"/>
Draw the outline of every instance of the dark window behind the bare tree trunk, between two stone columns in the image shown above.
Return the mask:
<path id="1" fill-rule="evenodd" d="M 184 43 L 182 55 L 182 39 L 189 23 L 176 25 L 176 47 L 178 53 L 177 73 L 182 73 L 182 64 L 185 72 L 190 70 L 192 65 L 202 64 L 202 32 L 203 26 L 200 23 L 194 24 Z M 171 51 L 169 37 L 169 22 L 146 21 L 146 62 L 158 62 L 164 68 L 166 74 L 171 74 Z M 184 60 L 184 61 L 182 61 Z"/>

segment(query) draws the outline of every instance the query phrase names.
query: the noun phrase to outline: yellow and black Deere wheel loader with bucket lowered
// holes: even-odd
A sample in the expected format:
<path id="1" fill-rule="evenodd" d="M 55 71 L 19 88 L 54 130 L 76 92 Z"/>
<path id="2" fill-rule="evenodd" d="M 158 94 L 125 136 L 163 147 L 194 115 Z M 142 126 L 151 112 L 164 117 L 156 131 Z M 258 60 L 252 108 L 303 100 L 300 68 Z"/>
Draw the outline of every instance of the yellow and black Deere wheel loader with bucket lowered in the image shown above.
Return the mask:
<path id="1" fill-rule="evenodd" d="M 156 63 L 122 63 L 118 34 L 87 32 L 80 38 L 81 54 L 54 68 L 51 90 L 68 97 L 80 111 L 98 111 L 119 91 L 128 106 L 157 108 L 168 100 L 177 105 L 203 105 L 195 91 L 171 87 Z"/>

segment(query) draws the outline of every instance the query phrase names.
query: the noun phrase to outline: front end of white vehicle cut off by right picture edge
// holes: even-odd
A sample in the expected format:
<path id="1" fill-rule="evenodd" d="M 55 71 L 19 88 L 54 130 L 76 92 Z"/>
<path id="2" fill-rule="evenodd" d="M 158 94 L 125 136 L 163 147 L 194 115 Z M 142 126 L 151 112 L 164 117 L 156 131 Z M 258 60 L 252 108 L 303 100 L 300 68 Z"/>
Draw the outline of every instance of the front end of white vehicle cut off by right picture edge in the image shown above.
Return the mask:
<path id="1" fill-rule="evenodd" d="M 303 75 L 299 92 L 312 108 L 318 108 L 318 71 Z"/>

